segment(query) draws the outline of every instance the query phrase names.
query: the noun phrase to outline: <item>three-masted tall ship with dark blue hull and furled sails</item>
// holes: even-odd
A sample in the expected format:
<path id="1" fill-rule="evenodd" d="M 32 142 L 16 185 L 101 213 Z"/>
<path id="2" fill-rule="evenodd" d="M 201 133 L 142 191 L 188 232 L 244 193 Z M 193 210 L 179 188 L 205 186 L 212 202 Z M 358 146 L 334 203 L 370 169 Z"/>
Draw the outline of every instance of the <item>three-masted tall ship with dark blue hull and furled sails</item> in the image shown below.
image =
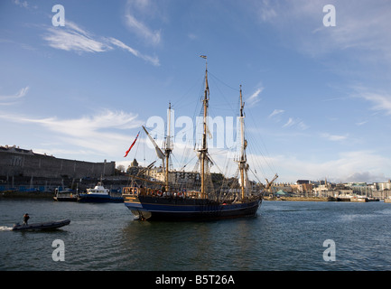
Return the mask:
<path id="1" fill-rule="evenodd" d="M 206 56 L 201 55 L 206 60 Z M 130 176 L 131 185 L 124 187 L 122 194 L 125 206 L 138 219 L 142 220 L 208 220 L 208 219 L 230 219 L 239 217 L 254 217 L 261 206 L 263 194 L 267 185 L 262 183 L 249 182 L 247 172 L 247 139 L 245 137 L 245 114 L 242 89 L 239 94 L 239 127 L 240 127 L 240 148 L 235 162 L 237 163 L 237 175 L 234 178 L 225 179 L 213 187 L 210 178 L 209 167 L 212 159 L 209 155 L 208 140 L 208 108 L 209 108 L 209 83 L 208 63 L 205 70 L 205 90 L 202 100 L 202 135 L 200 148 L 195 150 L 200 163 L 200 182 L 187 188 L 179 188 L 177 183 L 170 182 L 170 156 L 173 145 L 171 141 L 170 116 L 171 105 L 167 121 L 167 135 L 165 144 L 161 149 L 154 138 L 143 129 L 150 141 L 154 144 L 158 157 L 163 161 L 164 182 L 156 182 L 143 172 Z M 137 135 L 138 136 L 138 135 Z M 133 145 L 133 144 L 132 144 Z M 126 152 L 127 153 L 127 152 Z M 233 162 L 232 162 L 233 163 Z M 152 164 L 151 164 L 152 165 Z M 148 167 L 147 167 L 148 168 Z M 145 171 L 145 170 L 144 170 Z M 267 180 L 266 180 L 267 182 Z"/>

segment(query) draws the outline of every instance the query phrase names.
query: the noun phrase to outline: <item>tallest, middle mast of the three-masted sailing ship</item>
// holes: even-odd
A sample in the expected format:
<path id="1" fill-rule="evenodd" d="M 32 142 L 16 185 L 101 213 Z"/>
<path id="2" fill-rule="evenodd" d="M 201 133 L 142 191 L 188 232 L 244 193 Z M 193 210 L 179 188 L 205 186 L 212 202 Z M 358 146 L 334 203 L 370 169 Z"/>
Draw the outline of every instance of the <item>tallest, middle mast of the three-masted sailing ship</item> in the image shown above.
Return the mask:
<path id="1" fill-rule="evenodd" d="M 207 165 L 207 154 L 208 154 L 208 146 L 207 146 L 207 117 L 208 117 L 208 102 L 209 102 L 209 85 L 208 85 L 208 61 L 205 55 L 201 55 L 201 58 L 205 60 L 205 94 L 202 100 L 203 102 L 203 133 L 202 133 L 202 148 L 200 149 L 200 165 L 201 165 L 201 198 L 206 198 L 205 191 L 205 171 Z"/>

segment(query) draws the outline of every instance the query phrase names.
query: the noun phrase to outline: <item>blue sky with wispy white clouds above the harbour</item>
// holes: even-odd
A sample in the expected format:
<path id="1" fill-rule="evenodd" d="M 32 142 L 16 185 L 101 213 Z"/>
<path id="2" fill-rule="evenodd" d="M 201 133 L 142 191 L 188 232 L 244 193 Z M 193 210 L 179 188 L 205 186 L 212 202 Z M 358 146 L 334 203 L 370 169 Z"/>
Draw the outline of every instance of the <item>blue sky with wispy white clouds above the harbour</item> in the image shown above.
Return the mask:
<path id="1" fill-rule="evenodd" d="M 53 5 L 65 26 L 52 25 Z M 324 5 L 335 26 L 323 25 Z M 144 136 L 124 154 L 169 101 L 175 117 L 199 114 L 203 54 L 212 117 L 237 113 L 242 85 L 261 181 L 384 182 L 390 29 L 381 0 L 1 1 L 0 144 L 150 163 Z"/>

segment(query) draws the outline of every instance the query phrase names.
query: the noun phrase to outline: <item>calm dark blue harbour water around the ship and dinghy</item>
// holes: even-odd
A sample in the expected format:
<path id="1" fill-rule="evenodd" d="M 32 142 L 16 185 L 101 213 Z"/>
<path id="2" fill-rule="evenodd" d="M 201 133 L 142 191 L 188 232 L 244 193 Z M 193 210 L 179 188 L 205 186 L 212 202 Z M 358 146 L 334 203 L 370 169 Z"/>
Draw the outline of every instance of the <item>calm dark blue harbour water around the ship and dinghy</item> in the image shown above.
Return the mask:
<path id="1" fill-rule="evenodd" d="M 71 219 L 47 232 L 11 231 Z M 64 261 L 52 242 L 64 242 Z M 325 261 L 323 242 L 335 243 Z M 0 200 L 0 270 L 391 270 L 391 203 L 264 201 L 258 216 L 134 220 L 124 204 Z"/>

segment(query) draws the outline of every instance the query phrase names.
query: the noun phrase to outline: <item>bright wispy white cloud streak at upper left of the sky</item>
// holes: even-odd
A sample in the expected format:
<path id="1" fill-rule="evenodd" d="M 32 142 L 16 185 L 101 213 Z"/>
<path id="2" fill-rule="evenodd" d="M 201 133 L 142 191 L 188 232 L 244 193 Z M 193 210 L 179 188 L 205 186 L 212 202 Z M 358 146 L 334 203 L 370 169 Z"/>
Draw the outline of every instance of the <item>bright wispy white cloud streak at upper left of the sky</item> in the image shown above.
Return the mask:
<path id="1" fill-rule="evenodd" d="M 42 38 L 48 42 L 49 46 L 55 49 L 76 51 L 78 53 L 106 52 L 113 50 L 113 45 L 115 45 L 132 53 L 135 57 L 150 62 L 155 66 L 159 65 L 159 59 L 157 57 L 145 55 L 116 38 L 93 35 L 69 20 L 67 20 L 64 27 L 49 27 L 47 32 Z"/>

